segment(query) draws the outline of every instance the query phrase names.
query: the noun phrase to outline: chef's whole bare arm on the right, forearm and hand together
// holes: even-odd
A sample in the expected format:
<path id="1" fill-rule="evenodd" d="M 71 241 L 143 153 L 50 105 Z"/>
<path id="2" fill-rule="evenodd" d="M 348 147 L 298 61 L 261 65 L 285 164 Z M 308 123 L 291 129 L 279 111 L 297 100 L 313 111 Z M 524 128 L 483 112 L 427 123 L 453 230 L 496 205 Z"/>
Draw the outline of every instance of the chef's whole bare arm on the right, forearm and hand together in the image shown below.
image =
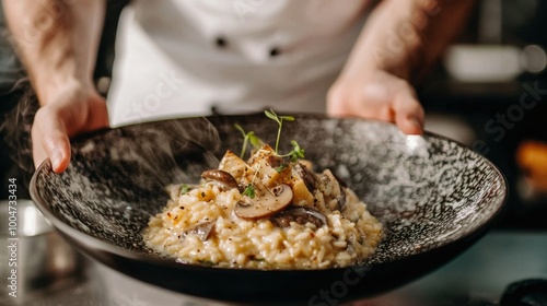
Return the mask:
<path id="1" fill-rule="evenodd" d="M 409 82 L 433 66 L 464 27 L 475 1 L 377 2 L 329 90 L 327 111 L 392 121 L 405 133 L 422 133 L 423 108 Z"/>

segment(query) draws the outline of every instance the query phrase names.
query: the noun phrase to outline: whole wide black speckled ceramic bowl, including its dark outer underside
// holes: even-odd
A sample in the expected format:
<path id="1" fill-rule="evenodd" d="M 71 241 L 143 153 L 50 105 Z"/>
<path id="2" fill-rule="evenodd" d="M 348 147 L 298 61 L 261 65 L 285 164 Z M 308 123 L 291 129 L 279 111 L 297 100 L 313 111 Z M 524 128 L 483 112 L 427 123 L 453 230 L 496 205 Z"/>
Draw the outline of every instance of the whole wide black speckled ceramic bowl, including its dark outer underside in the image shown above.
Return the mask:
<path id="1" fill-rule="evenodd" d="M 476 242 L 500 214 L 507 186 L 486 158 L 389 123 L 298 115 L 283 125 L 280 151 L 295 139 L 317 169 L 330 168 L 385 226 L 363 264 L 326 270 L 245 270 L 182 264 L 148 249 L 149 217 L 166 204 L 164 187 L 197 181 L 226 149 L 238 152 L 238 123 L 275 143 L 264 114 L 141 123 L 73 141 L 62 174 L 46 161 L 32 198 L 82 252 L 127 275 L 175 292 L 237 303 L 331 305 L 388 291 L 440 267 Z M 323 303 L 323 304 L 322 304 Z"/>

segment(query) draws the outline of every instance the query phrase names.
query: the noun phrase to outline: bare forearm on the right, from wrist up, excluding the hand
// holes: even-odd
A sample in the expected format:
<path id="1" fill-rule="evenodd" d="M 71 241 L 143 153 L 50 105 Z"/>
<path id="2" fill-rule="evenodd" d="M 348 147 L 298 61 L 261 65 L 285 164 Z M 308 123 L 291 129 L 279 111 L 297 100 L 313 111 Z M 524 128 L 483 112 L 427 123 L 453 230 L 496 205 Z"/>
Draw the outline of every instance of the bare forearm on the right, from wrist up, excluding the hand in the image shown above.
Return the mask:
<path id="1" fill-rule="evenodd" d="M 384 0 L 373 11 L 342 75 L 382 69 L 415 81 L 465 25 L 474 0 Z"/>

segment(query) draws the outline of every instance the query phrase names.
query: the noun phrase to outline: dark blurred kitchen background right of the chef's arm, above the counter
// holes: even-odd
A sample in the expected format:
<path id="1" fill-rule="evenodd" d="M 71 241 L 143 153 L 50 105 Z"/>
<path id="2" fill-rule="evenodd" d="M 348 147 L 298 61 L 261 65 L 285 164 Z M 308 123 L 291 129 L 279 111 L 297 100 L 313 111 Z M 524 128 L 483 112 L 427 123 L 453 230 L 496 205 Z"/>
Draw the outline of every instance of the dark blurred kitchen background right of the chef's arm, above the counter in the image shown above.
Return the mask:
<path id="1" fill-rule="evenodd" d="M 547 1 L 481 0 L 420 85 L 427 129 L 469 145 L 509 180 L 501 226 L 547 228 Z"/>

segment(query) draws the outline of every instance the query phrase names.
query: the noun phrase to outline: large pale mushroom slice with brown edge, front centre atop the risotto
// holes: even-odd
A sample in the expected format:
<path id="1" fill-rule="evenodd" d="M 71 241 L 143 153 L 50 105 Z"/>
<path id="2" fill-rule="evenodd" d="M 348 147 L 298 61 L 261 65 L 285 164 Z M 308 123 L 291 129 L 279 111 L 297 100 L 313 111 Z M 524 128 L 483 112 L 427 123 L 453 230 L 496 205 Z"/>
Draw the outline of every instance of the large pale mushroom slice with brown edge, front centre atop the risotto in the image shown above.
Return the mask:
<path id="1" fill-rule="evenodd" d="M 289 205 L 292 201 L 292 190 L 288 185 L 279 185 L 271 190 L 257 190 L 256 197 L 247 196 L 235 204 L 234 212 L 244 219 L 259 219 L 269 216 Z"/>

